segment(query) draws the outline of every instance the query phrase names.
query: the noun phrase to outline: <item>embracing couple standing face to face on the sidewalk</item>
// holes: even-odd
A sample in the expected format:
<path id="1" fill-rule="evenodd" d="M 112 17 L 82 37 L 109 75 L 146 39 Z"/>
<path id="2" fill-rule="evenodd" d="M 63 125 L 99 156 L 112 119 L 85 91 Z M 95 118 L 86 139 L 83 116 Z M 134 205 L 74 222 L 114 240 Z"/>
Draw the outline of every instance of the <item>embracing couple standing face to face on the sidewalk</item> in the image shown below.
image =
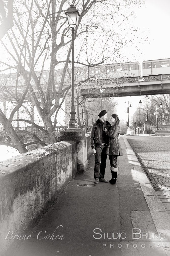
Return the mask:
<path id="1" fill-rule="evenodd" d="M 90 143 L 92 152 L 95 155 L 95 167 L 94 178 L 95 184 L 99 181 L 108 183 L 104 179 L 104 173 L 106 169 L 106 159 L 109 155 L 110 170 L 112 178 L 109 180 L 111 184 L 115 184 L 117 180 L 117 157 L 123 156 L 121 145 L 119 142 L 120 126 L 119 117 L 116 114 L 112 114 L 110 122 L 106 121 L 107 112 L 102 110 L 99 114 L 99 119 L 92 125 L 90 134 Z"/>

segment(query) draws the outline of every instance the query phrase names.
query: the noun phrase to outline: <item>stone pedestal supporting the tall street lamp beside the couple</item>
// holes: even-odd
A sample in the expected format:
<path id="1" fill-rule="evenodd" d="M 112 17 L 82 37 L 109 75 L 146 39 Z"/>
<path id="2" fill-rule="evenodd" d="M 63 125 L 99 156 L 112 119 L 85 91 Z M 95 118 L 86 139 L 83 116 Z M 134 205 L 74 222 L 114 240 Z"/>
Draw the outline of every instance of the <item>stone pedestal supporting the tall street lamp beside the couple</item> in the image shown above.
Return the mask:
<path id="1" fill-rule="evenodd" d="M 76 141 L 77 142 L 77 172 L 85 173 L 88 168 L 87 159 L 87 138 L 82 129 L 65 129 L 60 132 L 58 141 Z"/>

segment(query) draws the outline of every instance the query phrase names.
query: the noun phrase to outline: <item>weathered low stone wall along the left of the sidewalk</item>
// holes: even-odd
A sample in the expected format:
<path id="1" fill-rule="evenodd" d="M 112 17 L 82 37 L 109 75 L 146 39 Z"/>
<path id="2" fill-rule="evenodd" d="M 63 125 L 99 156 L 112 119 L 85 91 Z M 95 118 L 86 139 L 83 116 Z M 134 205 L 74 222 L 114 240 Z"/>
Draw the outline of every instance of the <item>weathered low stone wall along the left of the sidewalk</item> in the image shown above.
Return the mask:
<path id="1" fill-rule="evenodd" d="M 43 216 L 76 174 L 76 142 L 63 141 L 0 162 L 0 241 L 3 255 Z"/>

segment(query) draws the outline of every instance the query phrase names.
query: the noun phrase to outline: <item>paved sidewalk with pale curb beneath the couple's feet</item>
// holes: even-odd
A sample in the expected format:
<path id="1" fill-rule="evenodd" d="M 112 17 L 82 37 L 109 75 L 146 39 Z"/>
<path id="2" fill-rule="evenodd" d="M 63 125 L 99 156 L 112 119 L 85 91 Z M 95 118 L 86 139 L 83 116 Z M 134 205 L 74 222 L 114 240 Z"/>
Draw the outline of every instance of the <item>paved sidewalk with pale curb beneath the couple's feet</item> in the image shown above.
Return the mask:
<path id="1" fill-rule="evenodd" d="M 170 255 L 169 216 L 126 138 L 120 143 L 117 183 L 94 184 L 92 155 L 86 173 L 71 180 L 9 256 Z M 108 158 L 107 180 L 109 166 Z"/>

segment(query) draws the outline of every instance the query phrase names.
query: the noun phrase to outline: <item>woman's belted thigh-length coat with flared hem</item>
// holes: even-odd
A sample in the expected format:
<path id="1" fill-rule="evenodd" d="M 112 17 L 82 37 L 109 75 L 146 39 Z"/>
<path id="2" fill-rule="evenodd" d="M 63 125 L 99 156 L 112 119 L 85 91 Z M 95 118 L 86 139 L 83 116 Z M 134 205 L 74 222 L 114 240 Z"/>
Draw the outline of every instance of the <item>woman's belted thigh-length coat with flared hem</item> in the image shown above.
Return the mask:
<path id="1" fill-rule="evenodd" d="M 114 124 L 111 126 L 107 135 L 109 138 L 108 147 L 106 150 L 107 155 L 115 155 L 115 156 L 123 156 L 122 148 L 117 139 L 117 136 L 120 134 L 120 126 L 119 124 Z"/>

